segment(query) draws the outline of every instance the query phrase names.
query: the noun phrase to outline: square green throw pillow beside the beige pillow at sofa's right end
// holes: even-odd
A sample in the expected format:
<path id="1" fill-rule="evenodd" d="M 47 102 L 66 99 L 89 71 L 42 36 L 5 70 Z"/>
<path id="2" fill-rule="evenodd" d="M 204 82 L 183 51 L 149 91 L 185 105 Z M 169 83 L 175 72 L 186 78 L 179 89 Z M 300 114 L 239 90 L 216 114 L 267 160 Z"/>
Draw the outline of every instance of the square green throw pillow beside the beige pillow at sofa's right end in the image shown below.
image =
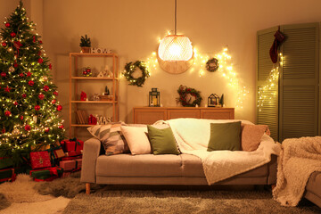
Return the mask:
<path id="1" fill-rule="evenodd" d="M 241 121 L 211 123 L 208 152 L 215 150 L 241 150 Z"/>

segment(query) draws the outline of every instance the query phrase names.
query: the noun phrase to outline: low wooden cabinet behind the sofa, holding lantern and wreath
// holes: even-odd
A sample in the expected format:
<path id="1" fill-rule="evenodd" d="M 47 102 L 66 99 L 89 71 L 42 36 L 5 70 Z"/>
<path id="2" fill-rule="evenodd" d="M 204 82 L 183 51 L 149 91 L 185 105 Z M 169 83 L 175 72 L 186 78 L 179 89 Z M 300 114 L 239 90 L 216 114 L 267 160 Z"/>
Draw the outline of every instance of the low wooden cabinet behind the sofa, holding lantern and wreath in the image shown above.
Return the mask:
<path id="1" fill-rule="evenodd" d="M 196 119 L 235 119 L 234 108 L 205 107 L 135 107 L 134 123 L 153 124 L 157 120 L 196 118 Z"/>

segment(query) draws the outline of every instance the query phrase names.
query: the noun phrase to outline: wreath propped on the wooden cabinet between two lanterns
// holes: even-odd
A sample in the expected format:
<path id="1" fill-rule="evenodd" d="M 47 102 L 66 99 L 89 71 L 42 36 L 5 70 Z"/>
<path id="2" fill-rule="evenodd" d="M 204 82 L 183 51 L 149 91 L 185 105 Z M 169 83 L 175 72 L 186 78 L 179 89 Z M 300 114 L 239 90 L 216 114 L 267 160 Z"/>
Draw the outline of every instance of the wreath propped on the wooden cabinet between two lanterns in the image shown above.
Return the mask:
<path id="1" fill-rule="evenodd" d="M 197 91 L 192 87 L 179 86 L 178 87 L 177 103 L 181 103 L 185 107 L 195 107 L 195 105 L 200 105 L 202 101 L 201 92 Z M 195 97 L 195 100 L 192 102 L 192 96 Z"/>

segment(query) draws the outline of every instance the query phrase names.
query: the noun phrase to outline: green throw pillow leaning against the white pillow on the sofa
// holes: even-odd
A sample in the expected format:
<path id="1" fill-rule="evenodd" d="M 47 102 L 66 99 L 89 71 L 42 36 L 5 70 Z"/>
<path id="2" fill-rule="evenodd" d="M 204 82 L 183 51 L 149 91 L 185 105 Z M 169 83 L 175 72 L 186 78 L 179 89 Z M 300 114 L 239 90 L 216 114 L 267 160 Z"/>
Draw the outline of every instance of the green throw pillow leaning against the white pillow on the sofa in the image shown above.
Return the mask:
<path id="1" fill-rule="evenodd" d="M 148 137 L 153 154 L 179 154 L 171 128 L 153 128 L 148 125 Z"/>

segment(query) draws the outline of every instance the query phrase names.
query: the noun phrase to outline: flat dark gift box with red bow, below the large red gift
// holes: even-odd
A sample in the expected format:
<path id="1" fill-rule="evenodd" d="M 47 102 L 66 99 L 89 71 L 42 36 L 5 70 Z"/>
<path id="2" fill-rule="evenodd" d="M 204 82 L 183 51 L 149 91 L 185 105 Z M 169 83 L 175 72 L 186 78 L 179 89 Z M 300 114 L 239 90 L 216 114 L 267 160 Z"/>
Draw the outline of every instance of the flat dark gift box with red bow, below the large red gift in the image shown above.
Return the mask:
<path id="1" fill-rule="evenodd" d="M 29 175 L 34 178 L 35 181 L 50 181 L 57 177 L 61 177 L 63 169 L 59 167 L 30 170 Z"/>

